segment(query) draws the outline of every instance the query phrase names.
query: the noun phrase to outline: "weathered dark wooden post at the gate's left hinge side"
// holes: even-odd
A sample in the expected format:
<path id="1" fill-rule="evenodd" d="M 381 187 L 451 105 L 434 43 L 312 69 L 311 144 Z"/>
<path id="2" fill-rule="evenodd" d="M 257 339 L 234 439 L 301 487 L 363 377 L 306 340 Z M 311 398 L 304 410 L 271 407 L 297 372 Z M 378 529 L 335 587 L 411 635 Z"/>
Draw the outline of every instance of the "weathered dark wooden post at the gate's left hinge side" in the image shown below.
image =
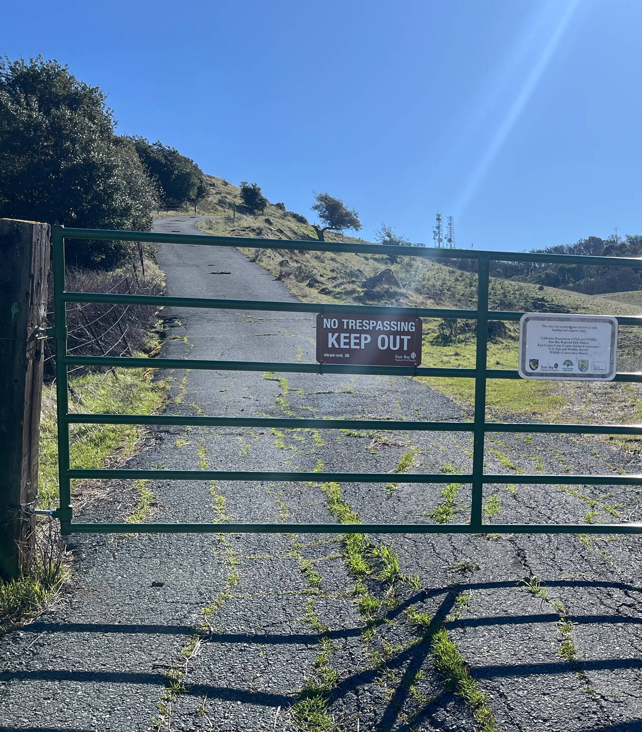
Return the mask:
<path id="1" fill-rule="evenodd" d="M 48 224 L 0 219 L 0 575 L 16 578 L 34 552 Z"/>

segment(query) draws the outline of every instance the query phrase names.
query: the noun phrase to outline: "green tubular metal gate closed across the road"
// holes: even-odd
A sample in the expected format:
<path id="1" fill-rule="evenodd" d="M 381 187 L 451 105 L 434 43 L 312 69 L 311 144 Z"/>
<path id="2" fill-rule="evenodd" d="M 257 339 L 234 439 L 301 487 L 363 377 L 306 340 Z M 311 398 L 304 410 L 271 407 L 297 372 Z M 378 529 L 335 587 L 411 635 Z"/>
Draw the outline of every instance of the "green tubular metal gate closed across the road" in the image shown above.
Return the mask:
<path id="1" fill-rule="evenodd" d="M 119 295 L 86 292 L 67 292 L 64 285 L 65 239 L 119 240 L 150 242 L 154 244 L 198 244 L 211 247 L 250 247 L 288 249 L 296 251 L 347 252 L 357 254 L 386 254 L 423 257 L 428 259 L 468 259 L 477 261 L 477 310 L 441 307 L 386 307 L 375 305 L 321 305 L 305 302 L 264 302 L 260 300 L 209 299 L 171 296 Z M 63 534 L 72 533 L 414 533 L 444 534 L 642 534 L 642 523 L 484 523 L 482 494 L 484 485 L 519 483 L 537 485 L 642 485 L 642 475 L 509 475 L 484 472 L 485 433 L 559 433 L 586 435 L 642 435 L 642 425 L 578 425 L 508 423 L 486 421 L 486 381 L 488 378 L 520 378 L 517 370 L 489 369 L 486 348 L 488 321 L 519 321 L 523 313 L 488 310 L 490 261 L 590 264 L 597 266 L 642 268 L 642 259 L 578 255 L 549 255 L 540 253 L 504 253 L 456 249 L 432 249 L 381 244 L 343 244 L 333 242 L 305 242 L 279 239 L 247 239 L 231 236 L 202 236 L 185 234 L 155 234 L 136 231 L 103 231 L 53 226 L 53 288 L 55 301 L 56 337 L 56 393 L 58 416 L 60 504 L 53 512 L 61 521 Z M 67 353 L 67 302 L 100 302 L 155 306 L 201 307 L 225 310 L 288 311 L 294 313 L 341 313 L 349 307 L 362 315 L 410 315 L 421 318 L 470 318 L 477 321 L 476 360 L 474 368 L 435 368 L 412 366 L 375 366 L 312 363 L 280 363 L 253 361 L 212 361 L 200 359 L 137 358 L 130 356 L 75 356 Z M 642 316 L 617 316 L 620 325 L 642 326 Z M 298 419 L 276 417 L 172 417 L 168 415 L 133 414 L 78 414 L 68 408 L 67 368 L 70 366 L 108 366 L 157 369 L 207 369 L 234 371 L 272 371 L 281 373 L 351 373 L 381 374 L 388 376 L 447 376 L 474 378 L 474 419 L 472 422 L 430 422 L 381 419 Z M 617 373 L 614 381 L 641 382 L 642 373 Z M 163 480 L 238 480 L 290 482 L 389 482 L 389 473 L 336 473 L 304 471 L 220 471 L 220 470 L 89 470 L 70 468 L 70 424 L 112 425 L 193 425 L 195 427 L 282 427 L 304 429 L 370 429 L 370 430 L 425 430 L 469 432 L 473 436 L 473 460 L 470 474 L 403 474 L 403 482 L 445 483 L 458 481 L 472 486 L 469 523 L 78 523 L 72 521 L 70 484 L 74 479 L 163 479 Z"/>

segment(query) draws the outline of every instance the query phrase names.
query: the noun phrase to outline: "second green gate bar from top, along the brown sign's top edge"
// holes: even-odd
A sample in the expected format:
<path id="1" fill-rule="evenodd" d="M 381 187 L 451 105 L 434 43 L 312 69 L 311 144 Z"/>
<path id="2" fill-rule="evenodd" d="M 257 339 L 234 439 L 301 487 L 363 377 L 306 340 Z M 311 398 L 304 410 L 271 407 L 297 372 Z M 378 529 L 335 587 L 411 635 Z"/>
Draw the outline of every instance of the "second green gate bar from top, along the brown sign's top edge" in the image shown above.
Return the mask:
<path id="1" fill-rule="evenodd" d="M 273 300 L 232 300 L 209 297 L 165 297 L 163 295 L 116 295 L 102 292 L 64 292 L 65 302 L 105 302 L 110 305 L 160 305 L 165 307 L 206 307 L 212 310 L 266 310 L 283 313 L 350 313 L 362 315 L 408 315 L 418 318 L 477 319 L 477 310 L 452 307 L 400 307 L 386 305 L 333 305 L 323 302 L 278 302 Z M 489 310 L 488 320 L 518 321 L 525 313 Z M 642 326 L 642 315 L 613 315 L 619 325 Z"/>

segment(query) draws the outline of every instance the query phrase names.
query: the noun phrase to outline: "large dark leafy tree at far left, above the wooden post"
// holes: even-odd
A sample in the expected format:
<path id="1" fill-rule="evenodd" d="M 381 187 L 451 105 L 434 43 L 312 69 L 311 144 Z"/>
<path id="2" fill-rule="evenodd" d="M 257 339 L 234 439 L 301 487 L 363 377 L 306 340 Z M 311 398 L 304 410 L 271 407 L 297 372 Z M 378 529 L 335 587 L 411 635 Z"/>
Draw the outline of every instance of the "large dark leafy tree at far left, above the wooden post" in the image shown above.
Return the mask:
<path id="1" fill-rule="evenodd" d="M 105 99 L 58 61 L 0 61 L 0 217 L 149 231 L 154 186 L 113 134 Z M 126 251 L 67 245 L 78 266 L 111 267 Z"/>

